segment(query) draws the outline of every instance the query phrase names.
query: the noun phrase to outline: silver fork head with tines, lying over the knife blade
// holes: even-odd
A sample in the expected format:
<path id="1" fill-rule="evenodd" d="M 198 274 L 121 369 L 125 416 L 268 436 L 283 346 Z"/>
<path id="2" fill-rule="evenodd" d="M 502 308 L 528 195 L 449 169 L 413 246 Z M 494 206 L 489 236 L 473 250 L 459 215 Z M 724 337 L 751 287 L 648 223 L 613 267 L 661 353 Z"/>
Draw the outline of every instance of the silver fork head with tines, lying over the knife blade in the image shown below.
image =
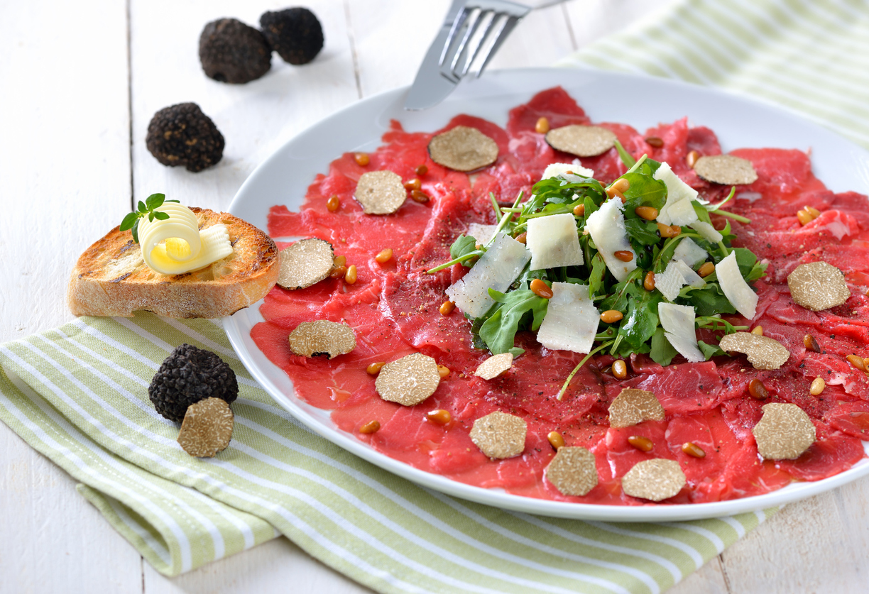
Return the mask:
<path id="1" fill-rule="evenodd" d="M 527 6 L 507 0 L 468 0 L 456 14 L 443 45 L 438 62 L 441 74 L 459 82 L 474 60 L 479 58 L 477 76 L 480 76 L 489 59 L 528 10 Z"/>

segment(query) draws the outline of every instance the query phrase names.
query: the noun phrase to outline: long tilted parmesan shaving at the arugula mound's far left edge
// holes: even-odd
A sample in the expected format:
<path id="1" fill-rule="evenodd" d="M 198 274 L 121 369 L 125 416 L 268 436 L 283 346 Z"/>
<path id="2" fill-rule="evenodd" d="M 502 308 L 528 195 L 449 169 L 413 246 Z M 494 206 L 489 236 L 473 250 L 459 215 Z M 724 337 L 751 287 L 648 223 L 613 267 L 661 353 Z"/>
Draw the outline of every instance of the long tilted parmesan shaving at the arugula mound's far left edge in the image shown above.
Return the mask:
<path id="1" fill-rule="evenodd" d="M 447 295 L 464 314 L 479 318 L 494 305 L 489 288 L 506 291 L 529 260 L 531 254 L 525 246 L 500 233 L 470 272 L 450 285 Z"/>

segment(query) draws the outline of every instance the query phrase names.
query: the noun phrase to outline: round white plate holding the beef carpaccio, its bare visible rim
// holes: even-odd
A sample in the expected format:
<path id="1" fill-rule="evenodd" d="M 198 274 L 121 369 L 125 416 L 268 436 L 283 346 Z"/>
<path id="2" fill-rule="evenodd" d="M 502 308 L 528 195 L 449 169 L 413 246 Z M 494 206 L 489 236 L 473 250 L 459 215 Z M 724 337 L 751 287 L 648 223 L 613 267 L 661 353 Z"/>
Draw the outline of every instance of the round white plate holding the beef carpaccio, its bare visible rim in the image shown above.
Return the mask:
<path id="1" fill-rule="evenodd" d="M 660 78 L 583 69 L 527 69 L 494 72 L 462 83 L 446 101 L 422 112 L 402 109 L 407 89 L 388 91 L 342 109 L 296 136 L 256 168 L 235 195 L 229 211 L 265 229 L 269 207 L 285 204 L 297 210 L 316 174 L 326 173 L 328 163 L 344 152 L 378 147 L 391 119 L 399 120 L 409 131 L 440 129 L 461 113 L 504 125 L 509 109 L 555 85 L 564 87 L 594 122 L 625 122 L 642 131 L 659 122 L 673 122 L 687 115 L 692 125 L 713 129 L 725 152 L 740 147 L 811 149 L 815 175 L 833 191 L 854 190 L 866 194 L 869 188 L 866 150 L 771 105 Z M 502 509 L 561 518 L 632 522 L 713 518 L 783 505 L 869 474 L 869 460 L 863 459 L 829 479 L 795 483 L 756 497 L 695 505 L 635 507 L 546 501 L 464 485 L 376 452 L 353 435 L 337 429 L 328 411 L 298 399 L 287 374 L 272 364 L 250 339 L 251 327 L 260 321 L 262 316 L 255 306 L 224 319 L 223 326 L 244 366 L 296 419 L 336 445 L 405 479 Z"/>

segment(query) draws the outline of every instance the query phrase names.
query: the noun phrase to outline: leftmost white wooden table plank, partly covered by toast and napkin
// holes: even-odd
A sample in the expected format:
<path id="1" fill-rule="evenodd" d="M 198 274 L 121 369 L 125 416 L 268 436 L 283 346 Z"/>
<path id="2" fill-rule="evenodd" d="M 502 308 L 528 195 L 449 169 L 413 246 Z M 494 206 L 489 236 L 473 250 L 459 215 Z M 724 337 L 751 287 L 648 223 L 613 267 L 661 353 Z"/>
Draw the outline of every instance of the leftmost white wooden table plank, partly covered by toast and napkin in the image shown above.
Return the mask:
<path id="1" fill-rule="evenodd" d="M 111 0 L 89 8 L 3 3 L 0 342 L 72 318 L 78 254 L 129 208 L 127 15 Z M 2 423 L 0 512 L 0 591 L 141 589 L 138 553 Z"/>

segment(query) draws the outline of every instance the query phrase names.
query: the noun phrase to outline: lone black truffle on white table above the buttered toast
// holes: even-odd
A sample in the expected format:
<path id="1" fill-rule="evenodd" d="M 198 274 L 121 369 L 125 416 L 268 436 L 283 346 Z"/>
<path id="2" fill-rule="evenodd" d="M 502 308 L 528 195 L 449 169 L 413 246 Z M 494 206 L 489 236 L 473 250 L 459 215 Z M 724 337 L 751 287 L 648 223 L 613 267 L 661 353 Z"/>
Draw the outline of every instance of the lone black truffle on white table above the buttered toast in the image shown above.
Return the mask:
<path id="1" fill-rule="evenodd" d="M 202 171 L 221 160 L 223 135 L 196 103 L 178 103 L 154 114 L 145 145 L 157 161 Z"/>

